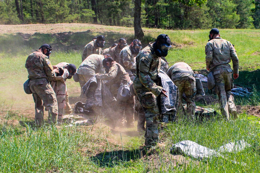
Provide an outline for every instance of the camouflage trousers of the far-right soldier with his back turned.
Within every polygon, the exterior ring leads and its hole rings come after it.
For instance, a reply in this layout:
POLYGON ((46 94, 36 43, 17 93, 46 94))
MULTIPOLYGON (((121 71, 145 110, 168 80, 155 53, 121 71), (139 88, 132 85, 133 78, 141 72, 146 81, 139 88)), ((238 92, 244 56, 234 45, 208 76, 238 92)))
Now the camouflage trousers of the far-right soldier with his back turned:
POLYGON ((218 95, 222 115, 226 120, 229 120, 231 116, 236 119, 237 109, 234 103, 233 94, 231 93, 231 89, 233 88, 231 68, 217 67, 213 70, 213 75, 216 81, 215 92, 218 95))

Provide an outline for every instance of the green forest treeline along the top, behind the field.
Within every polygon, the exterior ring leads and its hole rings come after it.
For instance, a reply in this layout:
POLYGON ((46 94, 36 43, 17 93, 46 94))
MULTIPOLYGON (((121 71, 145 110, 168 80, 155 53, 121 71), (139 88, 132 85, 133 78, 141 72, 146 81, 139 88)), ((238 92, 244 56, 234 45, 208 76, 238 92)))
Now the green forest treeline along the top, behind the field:
MULTIPOLYGON (((0 24, 134 26, 136 0, 0 0, 0 24)), ((140 0, 141 26, 259 28, 260 0, 140 0)))

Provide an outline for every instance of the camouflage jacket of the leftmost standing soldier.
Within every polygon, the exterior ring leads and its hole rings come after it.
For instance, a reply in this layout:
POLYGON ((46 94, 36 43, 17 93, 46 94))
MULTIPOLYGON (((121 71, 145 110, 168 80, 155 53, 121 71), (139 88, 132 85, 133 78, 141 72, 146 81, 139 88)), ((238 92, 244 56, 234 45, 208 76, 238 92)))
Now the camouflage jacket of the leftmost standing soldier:
POLYGON ((50 82, 54 80, 54 71, 49 57, 39 50, 28 56, 25 67, 27 68, 29 79, 46 78, 50 82))

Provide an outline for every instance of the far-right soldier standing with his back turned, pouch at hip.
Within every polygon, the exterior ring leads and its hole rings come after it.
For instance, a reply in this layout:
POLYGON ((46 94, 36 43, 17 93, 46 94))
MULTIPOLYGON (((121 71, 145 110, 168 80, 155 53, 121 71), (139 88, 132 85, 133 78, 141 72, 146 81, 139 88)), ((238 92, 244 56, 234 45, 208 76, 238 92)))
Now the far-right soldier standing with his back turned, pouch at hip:
POLYGON ((210 31, 209 42, 205 46, 206 68, 212 71, 216 81, 215 91, 220 102, 220 110, 226 120, 230 116, 237 118, 237 109, 234 97, 231 93, 233 88, 232 70, 229 65, 233 63, 233 78, 238 78, 238 57, 234 46, 225 39, 222 39, 217 28, 210 31))

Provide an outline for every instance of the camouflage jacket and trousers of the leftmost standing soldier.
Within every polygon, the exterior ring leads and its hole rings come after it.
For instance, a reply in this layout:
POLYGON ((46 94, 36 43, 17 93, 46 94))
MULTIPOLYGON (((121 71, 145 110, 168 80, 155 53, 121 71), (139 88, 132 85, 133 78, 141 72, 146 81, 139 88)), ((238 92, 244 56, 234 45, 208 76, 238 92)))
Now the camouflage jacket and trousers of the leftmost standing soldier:
POLYGON ((43 121, 43 106, 49 112, 48 122, 56 123, 58 104, 55 92, 49 83, 54 80, 54 71, 49 57, 36 50, 28 56, 25 67, 29 74, 29 87, 35 102, 35 124, 41 125, 43 121))

